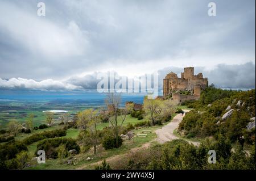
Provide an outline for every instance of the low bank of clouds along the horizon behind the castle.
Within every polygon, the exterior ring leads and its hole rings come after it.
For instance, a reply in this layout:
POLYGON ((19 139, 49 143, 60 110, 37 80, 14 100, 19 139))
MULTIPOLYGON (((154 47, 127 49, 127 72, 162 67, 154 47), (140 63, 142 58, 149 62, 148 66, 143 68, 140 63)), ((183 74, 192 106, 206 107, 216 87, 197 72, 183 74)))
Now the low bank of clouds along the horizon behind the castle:
MULTIPOLYGON (((180 77, 183 68, 168 67, 158 71, 159 90, 163 87, 163 78, 173 71, 180 77)), ((195 67, 195 74, 203 73, 208 78, 209 84, 225 89, 255 89, 255 64, 247 62, 242 65, 218 64, 213 70, 205 67, 195 67)), ((106 74, 109 74, 106 73, 106 74)), ((115 75, 119 76, 117 73, 115 75)), ((124 76, 124 75, 123 75, 124 76)), ((138 77, 141 75, 138 75, 138 77)), ((120 77, 120 76, 119 76, 120 77)), ((34 90, 95 90, 97 83, 97 72, 83 77, 72 77, 65 81, 54 81, 46 79, 34 81, 32 79, 11 78, 4 80, 0 78, 0 88, 5 89, 34 89, 34 90)), ((115 82, 117 82, 116 80, 115 82)))

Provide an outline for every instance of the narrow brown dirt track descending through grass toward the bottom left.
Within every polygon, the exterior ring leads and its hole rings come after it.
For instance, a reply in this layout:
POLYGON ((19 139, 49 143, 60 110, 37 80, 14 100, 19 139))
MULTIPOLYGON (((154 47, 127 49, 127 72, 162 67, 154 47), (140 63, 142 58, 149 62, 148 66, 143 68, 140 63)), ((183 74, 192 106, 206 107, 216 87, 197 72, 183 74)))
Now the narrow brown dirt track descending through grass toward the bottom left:
MULTIPOLYGON (((129 150, 128 153, 118 154, 118 155, 114 155, 112 157, 108 157, 108 158, 106 158, 106 162, 118 161, 118 159, 121 159, 122 157, 125 157, 126 155, 128 155, 132 152, 137 152, 137 151, 142 150, 142 149, 147 149, 150 146, 150 144, 151 144, 151 142, 147 142, 146 144, 143 144, 140 147, 136 147, 136 148, 133 148, 133 149, 129 150)), ((84 170, 88 167, 100 165, 102 163, 102 161, 103 160, 95 162, 95 163, 91 163, 89 165, 81 166, 81 167, 77 168, 77 170, 84 170)))

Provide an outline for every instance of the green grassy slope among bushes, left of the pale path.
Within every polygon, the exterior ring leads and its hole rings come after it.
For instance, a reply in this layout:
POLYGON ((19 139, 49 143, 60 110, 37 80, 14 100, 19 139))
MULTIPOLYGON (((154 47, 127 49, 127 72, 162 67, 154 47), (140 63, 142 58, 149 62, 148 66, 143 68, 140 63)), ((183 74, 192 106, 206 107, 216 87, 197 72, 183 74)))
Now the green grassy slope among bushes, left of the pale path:
MULTIPOLYGON (((172 116, 174 117, 175 114, 172 116)), ((127 119, 125 120, 125 123, 123 125, 127 125, 128 123, 135 124, 138 123, 138 121, 145 121, 147 118, 144 118, 143 120, 137 120, 134 117, 131 117, 130 115, 127 116, 127 119)), ((165 123, 163 125, 166 125, 168 123, 165 123)), ((98 129, 102 129, 105 126, 108 126, 109 123, 100 123, 98 125, 98 129)), ((129 151, 133 148, 141 147, 143 144, 146 144, 148 142, 151 142, 152 145, 156 144, 155 141, 156 134, 155 130, 162 127, 161 126, 155 126, 155 127, 144 127, 144 128, 138 128, 134 129, 135 137, 133 140, 126 140, 123 142, 123 145, 118 149, 110 149, 110 150, 104 150, 103 148, 98 148, 98 152, 96 155, 93 155, 92 151, 89 151, 88 153, 81 153, 75 156, 76 161, 78 162, 76 165, 68 165, 68 164, 61 164, 59 159, 55 160, 47 160, 46 164, 39 164, 35 167, 30 167, 28 169, 77 169, 79 167, 86 167, 86 169, 94 169, 94 167, 90 166, 92 163, 96 163, 98 161, 102 161, 105 158, 112 157, 114 155, 121 155, 125 153, 129 153, 129 151), (144 132, 144 131, 150 131, 150 132, 144 132), (138 133, 146 133, 146 137, 139 137, 136 136, 138 133), (91 161, 86 161, 86 158, 90 157, 93 158, 91 161)), ((76 138, 79 131, 77 129, 68 129, 67 136, 66 137, 72 137, 76 138)), ((31 153, 34 153, 33 150, 36 149, 36 144, 32 144, 29 146, 29 150, 31 153)), ((65 158, 64 161, 67 161, 68 158, 65 158)))

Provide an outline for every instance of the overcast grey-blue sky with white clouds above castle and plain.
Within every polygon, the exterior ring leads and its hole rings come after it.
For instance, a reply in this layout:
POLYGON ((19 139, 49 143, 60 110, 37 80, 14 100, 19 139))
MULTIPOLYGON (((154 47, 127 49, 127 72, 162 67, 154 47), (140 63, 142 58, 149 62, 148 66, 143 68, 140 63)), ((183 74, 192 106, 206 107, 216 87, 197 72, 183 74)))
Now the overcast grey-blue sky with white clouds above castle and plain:
MULTIPOLYGON (((0 1, 0 87, 92 89, 96 73, 160 78, 195 66, 219 87, 255 87, 255 1, 0 1)), ((162 83, 162 82, 161 82, 162 83)), ((161 86, 161 84, 160 84, 161 86)))

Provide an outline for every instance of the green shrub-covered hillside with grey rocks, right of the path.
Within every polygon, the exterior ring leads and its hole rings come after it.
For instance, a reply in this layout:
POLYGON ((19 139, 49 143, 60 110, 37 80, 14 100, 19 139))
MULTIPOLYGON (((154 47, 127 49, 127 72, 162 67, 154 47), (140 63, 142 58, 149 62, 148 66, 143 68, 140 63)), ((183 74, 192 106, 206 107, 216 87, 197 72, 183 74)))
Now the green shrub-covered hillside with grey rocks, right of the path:
POLYGON ((255 117, 255 90, 232 91, 210 86, 200 100, 183 104, 195 109, 181 121, 180 133, 200 138, 217 138, 222 134, 232 142, 244 136, 247 144, 255 143, 255 127, 246 128, 255 117))

